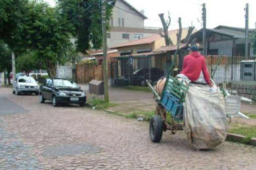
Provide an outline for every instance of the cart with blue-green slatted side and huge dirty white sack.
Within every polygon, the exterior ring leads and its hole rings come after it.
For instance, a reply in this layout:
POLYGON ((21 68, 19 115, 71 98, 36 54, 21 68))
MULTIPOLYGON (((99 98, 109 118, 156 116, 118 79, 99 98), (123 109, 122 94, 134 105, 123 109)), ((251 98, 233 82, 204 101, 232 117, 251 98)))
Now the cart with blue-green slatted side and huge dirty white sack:
POLYGON ((167 77, 160 79, 155 88, 147 80, 157 103, 155 116, 149 123, 150 139, 159 142, 162 132, 166 130, 175 134, 180 130, 179 121, 183 120, 183 130, 193 149, 214 148, 226 139, 227 117, 246 117, 239 112, 240 100, 243 99, 230 95, 226 89, 220 89, 212 80, 214 90, 209 85, 190 83, 184 77, 172 77, 171 70, 178 49, 179 46, 167 77), (169 113, 171 121, 167 121, 166 113, 169 113))

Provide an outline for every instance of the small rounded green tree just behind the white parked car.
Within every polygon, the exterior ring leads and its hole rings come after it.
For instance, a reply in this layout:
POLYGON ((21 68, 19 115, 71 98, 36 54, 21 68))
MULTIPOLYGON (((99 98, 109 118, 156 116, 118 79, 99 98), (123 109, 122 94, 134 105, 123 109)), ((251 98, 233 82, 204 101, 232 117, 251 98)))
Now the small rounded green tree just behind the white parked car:
POLYGON ((37 51, 26 51, 16 59, 16 70, 25 72, 27 76, 32 70, 45 69, 45 64, 38 60, 37 51))

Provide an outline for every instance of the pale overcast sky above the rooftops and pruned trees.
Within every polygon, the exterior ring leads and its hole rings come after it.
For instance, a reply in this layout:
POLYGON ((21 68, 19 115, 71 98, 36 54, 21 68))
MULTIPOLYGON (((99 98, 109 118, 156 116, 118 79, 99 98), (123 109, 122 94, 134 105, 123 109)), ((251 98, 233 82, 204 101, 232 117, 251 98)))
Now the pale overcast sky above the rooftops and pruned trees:
MULTIPOLYGON (((45 0, 54 5, 55 0, 45 0)), ((196 29, 202 26, 202 3, 206 4, 206 27, 214 28, 218 25, 245 27, 245 4, 249 3, 249 28, 255 28, 256 0, 126 0, 137 10, 144 10, 149 18, 145 20, 145 26, 162 27, 158 17, 159 13, 171 16, 169 29, 177 29, 178 18, 182 19, 182 27, 193 24, 196 29)))

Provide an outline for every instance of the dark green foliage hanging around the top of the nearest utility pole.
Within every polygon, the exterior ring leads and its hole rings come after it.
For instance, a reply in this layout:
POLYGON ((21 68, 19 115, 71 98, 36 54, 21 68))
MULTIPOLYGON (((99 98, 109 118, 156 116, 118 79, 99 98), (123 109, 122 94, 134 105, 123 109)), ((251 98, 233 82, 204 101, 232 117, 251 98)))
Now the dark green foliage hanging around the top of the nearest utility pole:
MULTIPOLYGON (((112 13, 113 3, 106 8, 107 29, 112 13)), ((73 37, 75 37, 76 49, 85 53, 91 48, 100 49, 102 46, 101 27, 101 0, 58 0, 58 9, 61 16, 67 18, 72 24, 73 37)))

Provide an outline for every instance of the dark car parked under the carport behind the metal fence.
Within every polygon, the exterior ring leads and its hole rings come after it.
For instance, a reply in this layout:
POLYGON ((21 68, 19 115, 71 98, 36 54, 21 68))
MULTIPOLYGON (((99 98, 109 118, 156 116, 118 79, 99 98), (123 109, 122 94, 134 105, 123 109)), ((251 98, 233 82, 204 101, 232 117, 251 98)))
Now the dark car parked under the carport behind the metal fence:
MULTIPOLYGON (((150 68, 150 80, 152 82, 157 81, 163 76, 164 76, 163 70, 156 67, 150 68)), ((129 77, 130 77, 129 74, 125 75, 125 80, 129 80, 129 77)), ((147 79, 149 80, 149 68, 145 68, 145 73, 144 73, 144 69, 138 69, 135 72, 133 72, 133 85, 146 86, 147 79), (145 74, 145 79, 144 79, 144 74, 145 74)))

